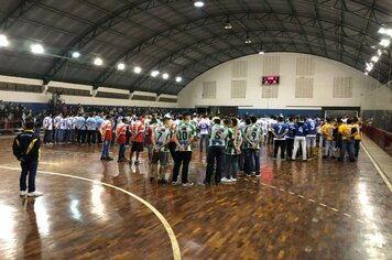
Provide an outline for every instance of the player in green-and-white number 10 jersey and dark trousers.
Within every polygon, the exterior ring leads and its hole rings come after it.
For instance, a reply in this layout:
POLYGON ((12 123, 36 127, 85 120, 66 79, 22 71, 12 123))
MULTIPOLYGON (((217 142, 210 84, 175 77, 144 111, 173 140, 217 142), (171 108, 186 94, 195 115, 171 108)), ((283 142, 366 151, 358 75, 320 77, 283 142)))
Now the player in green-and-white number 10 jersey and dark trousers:
POLYGON ((188 167, 192 159, 192 142, 194 140, 196 129, 190 124, 190 115, 184 113, 183 121, 177 123, 175 129, 174 141, 177 149, 174 153, 174 167, 172 184, 177 185, 179 167, 183 165, 182 183, 184 187, 193 186, 188 182, 188 167))

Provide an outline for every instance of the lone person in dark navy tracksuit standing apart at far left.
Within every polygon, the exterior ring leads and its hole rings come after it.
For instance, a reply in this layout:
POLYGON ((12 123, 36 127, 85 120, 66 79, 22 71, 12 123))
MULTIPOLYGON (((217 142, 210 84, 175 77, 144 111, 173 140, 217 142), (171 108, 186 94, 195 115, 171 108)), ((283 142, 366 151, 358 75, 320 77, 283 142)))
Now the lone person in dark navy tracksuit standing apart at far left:
POLYGON ((43 193, 35 191, 35 176, 41 156, 40 136, 34 133, 34 122, 24 124, 24 131, 18 134, 12 144, 13 155, 21 162, 20 196, 39 197, 43 193), (26 178, 29 176, 29 189, 26 178), (28 189, 28 192, 26 192, 28 189))

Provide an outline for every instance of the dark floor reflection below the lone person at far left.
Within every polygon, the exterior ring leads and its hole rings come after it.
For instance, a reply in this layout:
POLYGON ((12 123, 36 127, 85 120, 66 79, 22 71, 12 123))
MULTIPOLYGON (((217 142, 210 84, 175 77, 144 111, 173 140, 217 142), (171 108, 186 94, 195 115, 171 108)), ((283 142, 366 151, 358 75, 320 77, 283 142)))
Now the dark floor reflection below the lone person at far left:
POLYGON ((31 258, 41 258, 41 236, 39 231, 39 226, 36 224, 36 216, 35 216, 35 209, 34 209, 34 204, 35 199, 34 198, 29 198, 24 201, 24 206, 28 215, 28 223, 25 226, 25 229, 28 230, 26 236, 24 238, 23 242, 23 258, 24 259, 31 259, 31 258))

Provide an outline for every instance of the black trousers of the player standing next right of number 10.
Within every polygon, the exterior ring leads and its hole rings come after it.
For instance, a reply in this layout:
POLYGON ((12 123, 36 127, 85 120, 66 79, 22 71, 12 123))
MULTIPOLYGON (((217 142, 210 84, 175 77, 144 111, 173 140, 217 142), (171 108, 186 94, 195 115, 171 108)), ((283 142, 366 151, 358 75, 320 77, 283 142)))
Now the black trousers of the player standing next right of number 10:
POLYGON ((215 184, 220 183, 224 154, 225 154, 225 147, 211 145, 208 148, 206 180, 205 180, 206 183, 208 184, 211 183, 215 163, 216 163, 215 184))

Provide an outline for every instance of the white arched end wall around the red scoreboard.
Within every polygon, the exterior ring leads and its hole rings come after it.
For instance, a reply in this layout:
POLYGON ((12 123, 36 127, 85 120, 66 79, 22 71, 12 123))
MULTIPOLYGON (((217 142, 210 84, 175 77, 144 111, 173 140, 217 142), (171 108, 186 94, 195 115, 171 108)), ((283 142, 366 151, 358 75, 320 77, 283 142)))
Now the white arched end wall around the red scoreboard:
MULTIPOLYGON (((306 76, 307 77, 307 76, 306 76)), ((375 79, 333 59, 298 53, 266 53, 250 55, 224 63, 194 79, 178 94, 178 107, 239 106, 260 109, 312 109, 323 106, 361 106, 361 96, 375 79), (279 75, 263 75, 263 59, 280 57, 279 75), (295 98, 296 61, 298 57, 314 57, 314 96, 295 98), (231 98, 231 67, 236 61, 248 62, 247 98, 231 98), (280 76, 279 98, 261 98, 262 76, 280 76), (333 98, 334 77, 352 78, 352 98, 333 98), (217 83, 217 98, 203 98, 203 83, 217 83)))

